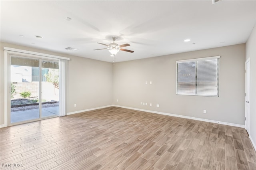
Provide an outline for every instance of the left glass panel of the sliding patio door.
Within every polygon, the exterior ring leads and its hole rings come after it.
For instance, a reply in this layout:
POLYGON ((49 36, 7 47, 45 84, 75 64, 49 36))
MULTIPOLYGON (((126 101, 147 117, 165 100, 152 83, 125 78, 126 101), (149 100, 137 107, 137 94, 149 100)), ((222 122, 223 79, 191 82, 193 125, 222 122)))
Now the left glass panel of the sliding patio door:
POLYGON ((39 59, 11 57, 10 123, 40 118, 39 59))

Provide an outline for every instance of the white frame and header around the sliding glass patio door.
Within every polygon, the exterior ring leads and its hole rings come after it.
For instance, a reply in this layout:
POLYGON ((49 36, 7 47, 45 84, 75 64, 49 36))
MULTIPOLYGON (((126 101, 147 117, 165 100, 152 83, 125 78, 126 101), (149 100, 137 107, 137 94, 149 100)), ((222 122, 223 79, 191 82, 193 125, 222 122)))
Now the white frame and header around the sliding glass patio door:
MULTIPOLYGON (((32 58, 37 58, 40 61, 42 59, 49 59, 49 60, 56 60, 59 61, 60 59, 67 59, 69 60, 69 58, 66 57, 60 57, 60 56, 56 56, 56 55, 48 55, 48 54, 43 54, 43 53, 37 53, 37 52, 32 52, 32 51, 25 51, 25 50, 18 50, 18 49, 13 49, 13 48, 9 48, 9 47, 4 47, 4 127, 8 127, 8 126, 13 126, 13 125, 18 125, 21 123, 29 123, 29 122, 34 122, 34 121, 40 121, 43 119, 48 119, 48 118, 52 118, 52 117, 57 117, 57 116, 51 116, 51 117, 46 117, 46 118, 42 118, 41 116, 41 111, 40 111, 40 117, 39 119, 33 119, 33 120, 29 120, 29 121, 22 121, 22 122, 18 122, 18 123, 10 123, 10 88, 11 88, 11 81, 10 81, 10 58, 12 55, 17 55, 17 56, 23 56, 23 57, 32 57, 32 58)), ((41 62, 39 62, 41 64, 41 62)), ((40 69, 39 69, 40 70, 40 69)), ((41 74, 41 71, 40 71, 41 74)), ((40 76, 41 77, 41 76, 40 76)), ((39 83, 40 84, 40 83, 39 83)), ((41 85, 39 85, 40 87, 41 85)), ((39 91, 41 90, 41 87, 39 88, 39 91)), ((39 93, 39 96, 41 96, 41 94, 39 93)), ((41 100, 41 99, 40 99, 41 100)), ((40 105, 39 105, 40 107, 40 105)), ((39 108, 40 110, 40 108, 39 108)))

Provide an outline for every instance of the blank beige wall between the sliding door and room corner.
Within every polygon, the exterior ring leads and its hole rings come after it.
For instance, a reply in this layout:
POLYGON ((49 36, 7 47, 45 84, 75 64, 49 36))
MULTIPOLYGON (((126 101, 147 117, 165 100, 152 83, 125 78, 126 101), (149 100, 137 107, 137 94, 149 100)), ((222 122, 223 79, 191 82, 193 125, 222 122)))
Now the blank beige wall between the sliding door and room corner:
POLYGON ((68 62, 68 112, 112 105, 112 96, 112 63, 72 57, 68 62))

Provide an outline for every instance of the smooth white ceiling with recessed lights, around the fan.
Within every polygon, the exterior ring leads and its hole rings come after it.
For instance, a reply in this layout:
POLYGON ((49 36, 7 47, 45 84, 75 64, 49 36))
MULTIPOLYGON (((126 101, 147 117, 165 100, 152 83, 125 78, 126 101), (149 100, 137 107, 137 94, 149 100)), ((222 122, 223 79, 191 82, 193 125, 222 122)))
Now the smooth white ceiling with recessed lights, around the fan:
POLYGON ((123 48, 134 51, 118 52, 120 62, 245 43, 255 21, 255 0, 1 1, 0 38, 112 62, 107 49, 93 49, 105 48, 97 42, 109 44, 114 35, 116 43, 129 43, 123 48))

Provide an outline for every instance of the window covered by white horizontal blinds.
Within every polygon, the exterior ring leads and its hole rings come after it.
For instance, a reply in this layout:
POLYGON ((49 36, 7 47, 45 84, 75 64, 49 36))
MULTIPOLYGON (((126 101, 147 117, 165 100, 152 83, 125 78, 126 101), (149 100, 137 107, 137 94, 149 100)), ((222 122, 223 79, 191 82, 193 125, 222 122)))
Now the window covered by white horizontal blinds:
POLYGON ((219 58, 176 61, 176 94, 218 97, 219 58))

